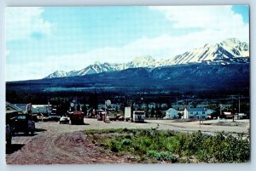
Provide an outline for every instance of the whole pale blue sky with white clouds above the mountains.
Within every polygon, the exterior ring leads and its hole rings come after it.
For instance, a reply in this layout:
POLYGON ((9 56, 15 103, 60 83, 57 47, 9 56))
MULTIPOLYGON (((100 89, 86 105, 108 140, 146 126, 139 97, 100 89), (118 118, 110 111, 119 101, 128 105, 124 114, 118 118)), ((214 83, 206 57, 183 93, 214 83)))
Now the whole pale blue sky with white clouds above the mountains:
POLYGON ((137 56, 170 59, 230 37, 249 43, 248 6, 8 7, 6 81, 137 56))

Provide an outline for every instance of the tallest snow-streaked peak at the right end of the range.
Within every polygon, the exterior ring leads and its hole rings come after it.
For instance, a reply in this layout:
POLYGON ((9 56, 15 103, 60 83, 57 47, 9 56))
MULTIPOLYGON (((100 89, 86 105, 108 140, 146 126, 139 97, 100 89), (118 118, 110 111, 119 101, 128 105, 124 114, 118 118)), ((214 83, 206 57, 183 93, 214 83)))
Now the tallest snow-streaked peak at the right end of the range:
MULTIPOLYGON (((164 60, 158 66, 172 66, 188 63, 219 61, 222 64, 237 62, 238 58, 248 58, 249 48, 247 43, 241 43, 236 38, 229 38, 222 43, 206 44, 201 48, 195 48, 191 51, 179 54, 172 59, 164 60)), ((248 60, 248 59, 247 59, 248 60)))

